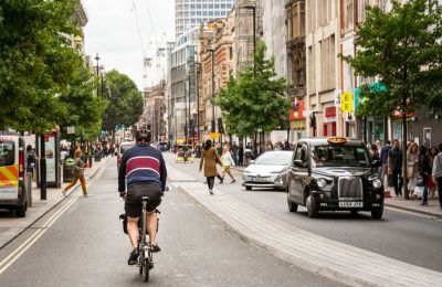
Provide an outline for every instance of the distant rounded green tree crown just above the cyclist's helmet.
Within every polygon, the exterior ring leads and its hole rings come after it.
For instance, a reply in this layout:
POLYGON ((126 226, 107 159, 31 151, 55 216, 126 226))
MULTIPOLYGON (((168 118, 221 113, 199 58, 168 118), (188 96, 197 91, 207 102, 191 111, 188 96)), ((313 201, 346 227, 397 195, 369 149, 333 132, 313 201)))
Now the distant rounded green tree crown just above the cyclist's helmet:
POLYGON ((116 125, 126 127, 134 125, 143 114, 144 100, 135 83, 117 71, 106 74, 108 89, 104 97, 108 106, 104 114, 104 125, 107 130, 114 130, 116 125))

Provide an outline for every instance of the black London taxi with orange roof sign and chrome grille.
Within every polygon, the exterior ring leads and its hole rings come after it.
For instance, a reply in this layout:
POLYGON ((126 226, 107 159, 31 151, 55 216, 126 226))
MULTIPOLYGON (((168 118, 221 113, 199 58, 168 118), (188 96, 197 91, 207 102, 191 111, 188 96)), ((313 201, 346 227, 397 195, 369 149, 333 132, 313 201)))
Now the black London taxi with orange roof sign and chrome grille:
POLYGON ((319 211, 370 211, 372 219, 381 219, 385 193, 376 176, 379 166, 360 140, 299 139, 287 173, 288 210, 304 205, 308 217, 319 211))

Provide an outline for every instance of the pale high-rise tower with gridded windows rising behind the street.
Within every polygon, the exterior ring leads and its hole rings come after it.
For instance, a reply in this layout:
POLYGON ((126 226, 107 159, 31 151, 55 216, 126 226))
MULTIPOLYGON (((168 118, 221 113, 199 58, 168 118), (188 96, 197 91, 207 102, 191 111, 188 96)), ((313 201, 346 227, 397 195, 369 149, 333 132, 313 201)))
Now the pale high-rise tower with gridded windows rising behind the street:
POLYGON ((175 0, 175 31, 178 39, 186 31, 224 19, 235 0, 175 0))

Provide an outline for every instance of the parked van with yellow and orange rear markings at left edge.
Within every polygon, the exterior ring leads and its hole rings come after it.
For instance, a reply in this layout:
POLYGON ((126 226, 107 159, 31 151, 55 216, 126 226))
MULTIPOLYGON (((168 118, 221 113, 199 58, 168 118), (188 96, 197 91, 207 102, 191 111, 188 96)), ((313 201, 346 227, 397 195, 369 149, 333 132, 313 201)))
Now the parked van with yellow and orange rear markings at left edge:
POLYGON ((25 142, 19 136, 0 135, 0 209, 24 217, 28 208, 25 142))

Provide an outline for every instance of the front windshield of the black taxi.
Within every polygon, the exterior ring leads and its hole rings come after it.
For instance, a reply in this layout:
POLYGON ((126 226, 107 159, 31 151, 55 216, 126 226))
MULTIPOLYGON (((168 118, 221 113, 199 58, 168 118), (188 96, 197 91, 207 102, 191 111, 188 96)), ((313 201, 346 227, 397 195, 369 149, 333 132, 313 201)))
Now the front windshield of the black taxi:
POLYGON ((369 167, 361 146, 316 146, 311 156, 312 167, 369 167))

